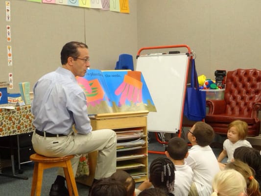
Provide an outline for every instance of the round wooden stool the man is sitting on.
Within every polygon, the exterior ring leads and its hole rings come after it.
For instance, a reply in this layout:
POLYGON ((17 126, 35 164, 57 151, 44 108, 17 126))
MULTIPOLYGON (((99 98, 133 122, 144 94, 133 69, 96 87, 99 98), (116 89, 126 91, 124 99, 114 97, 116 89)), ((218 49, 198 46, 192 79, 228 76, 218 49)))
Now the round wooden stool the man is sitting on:
POLYGON ((74 196, 78 196, 76 182, 71 168, 71 159, 73 157, 74 155, 69 155, 65 157, 46 157, 36 153, 32 154, 30 156, 30 160, 34 162, 34 170, 31 196, 35 195, 35 191, 36 196, 41 195, 43 172, 45 169, 55 167, 62 167, 64 169, 69 195, 72 196, 73 190, 74 196))

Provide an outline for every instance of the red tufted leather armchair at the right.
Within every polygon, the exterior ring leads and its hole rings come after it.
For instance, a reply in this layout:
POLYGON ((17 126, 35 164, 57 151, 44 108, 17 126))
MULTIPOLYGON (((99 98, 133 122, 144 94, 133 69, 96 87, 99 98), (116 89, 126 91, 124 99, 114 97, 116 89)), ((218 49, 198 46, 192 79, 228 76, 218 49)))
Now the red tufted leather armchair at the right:
POLYGON ((235 120, 248 124, 248 136, 260 132, 261 70, 237 69, 227 72, 224 100, 207 100, 209 113, 205 122, 215 133, 227 134, 228 124, 235 120))

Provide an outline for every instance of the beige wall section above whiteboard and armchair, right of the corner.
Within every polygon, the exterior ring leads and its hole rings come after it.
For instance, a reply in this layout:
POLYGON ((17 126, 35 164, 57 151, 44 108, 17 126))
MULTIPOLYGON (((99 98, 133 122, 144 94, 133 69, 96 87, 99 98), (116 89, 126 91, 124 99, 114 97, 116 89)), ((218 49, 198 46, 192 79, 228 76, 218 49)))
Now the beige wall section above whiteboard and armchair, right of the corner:
MULTIPOLYGON (((261 69, 260 0, 139 0, 138 48, 186 44, 198 75, 261 69)), ((145 51, 144 51, 145 52, 145 51)))

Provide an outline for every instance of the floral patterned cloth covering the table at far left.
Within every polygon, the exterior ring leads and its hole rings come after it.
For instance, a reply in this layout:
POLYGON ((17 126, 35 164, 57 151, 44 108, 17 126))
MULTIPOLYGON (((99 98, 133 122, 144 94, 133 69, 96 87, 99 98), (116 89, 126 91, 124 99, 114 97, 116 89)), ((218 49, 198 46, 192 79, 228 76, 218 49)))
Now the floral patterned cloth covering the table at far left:
POLYGON ((35 129, 32 121, 31 105, 0 108, 0 137, 30 133, 35 129))

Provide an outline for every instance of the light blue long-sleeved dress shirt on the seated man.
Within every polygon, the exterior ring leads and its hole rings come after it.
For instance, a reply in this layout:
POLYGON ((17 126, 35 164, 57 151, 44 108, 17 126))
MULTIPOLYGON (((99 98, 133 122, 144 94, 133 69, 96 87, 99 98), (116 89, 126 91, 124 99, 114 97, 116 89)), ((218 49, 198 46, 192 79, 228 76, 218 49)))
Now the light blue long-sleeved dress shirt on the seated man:
POLYGON ((59 67, 41 77, 33 87, 31 111, 40 131, 68 135, 75 124, 80 134, 92 131, 86 97, 71 71, 59 67))

